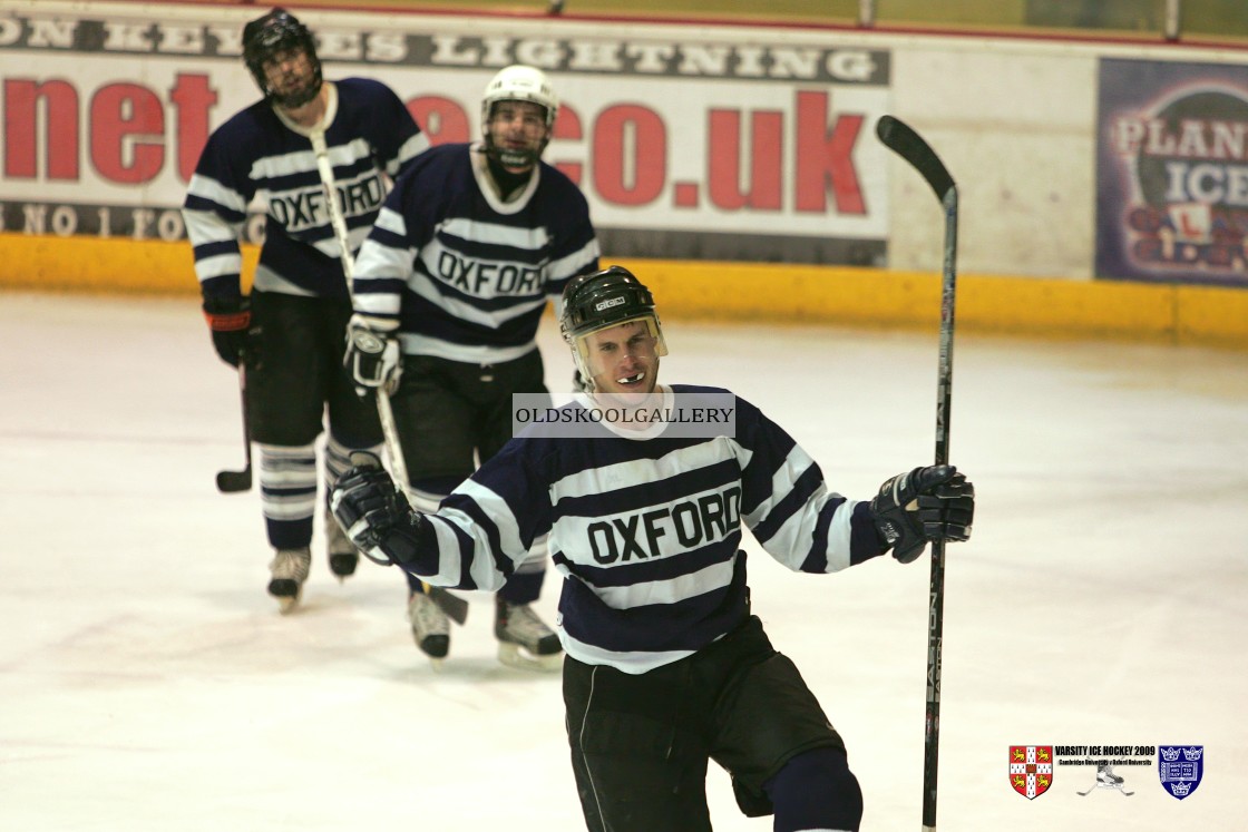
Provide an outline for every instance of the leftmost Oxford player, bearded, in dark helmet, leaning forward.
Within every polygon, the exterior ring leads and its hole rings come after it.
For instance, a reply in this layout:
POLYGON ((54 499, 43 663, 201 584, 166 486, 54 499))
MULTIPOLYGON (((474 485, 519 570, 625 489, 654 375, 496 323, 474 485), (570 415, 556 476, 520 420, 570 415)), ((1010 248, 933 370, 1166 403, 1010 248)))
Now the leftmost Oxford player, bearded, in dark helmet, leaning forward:
MULTIPOLYGON (((183 216, 212 343, 247 375, 261 509, 276 550, 268 593, 286 612, 298 602, 311 564, 314 442, 326 409, 327 495, 349 449, 381 443, 377 413, 356 397, 342 365, 351 302, 312 137, 324 137, 351 247, 377 217, 387 180, 409 167, 428 138, 387 86, 323 81, 312 32, 282 9, 248 22, 242 46, 265 99, 208 138, 183 216), (238 236, 257 193, 267 198, 265 243, 246 296, 238 236)), ((358 555, 328 510, 326 520, 329 568, 341 580, 358 555)))

